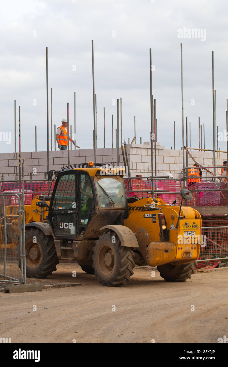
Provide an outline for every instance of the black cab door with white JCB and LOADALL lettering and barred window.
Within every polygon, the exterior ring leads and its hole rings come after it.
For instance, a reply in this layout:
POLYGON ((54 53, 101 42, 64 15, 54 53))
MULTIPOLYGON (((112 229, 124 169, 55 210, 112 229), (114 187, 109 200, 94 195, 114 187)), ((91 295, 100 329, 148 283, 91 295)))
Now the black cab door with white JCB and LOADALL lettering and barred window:
POLYGON ((48 222, 56 239, 78 237, 78 172, 57 177, 49 208, 48 222))

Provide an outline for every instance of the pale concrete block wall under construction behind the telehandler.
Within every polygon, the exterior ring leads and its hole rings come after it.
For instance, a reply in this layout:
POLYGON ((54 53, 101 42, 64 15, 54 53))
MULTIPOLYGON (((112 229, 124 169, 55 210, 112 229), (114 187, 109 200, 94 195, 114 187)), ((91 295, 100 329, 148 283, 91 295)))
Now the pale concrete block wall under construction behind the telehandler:
MULTIPOLYGON (((183 155, 182 150, 165 149, 157 142, 157 175, 172 173, 173 177, 180 178, 183 175, 183 155)), ((151 144, 127 144, 128 161, 130 164, 131 175, 141 174, 142 176, 151 175, 151 144)), ((70 164, 87 163, 94 161, 93 149, 70 150, 70 164)), ((153 150, 154 155, 154 150, 153 150)), ((204 166, 213 165, 213 152, 199 152, 191 150, 191 155, 198 163, 204 166)), ((226 153, 216 153, 216 165, 222 166, 227 159, 226 153)), ((47 172, 47 152, 22 152, 21 164, 24 163, 24 176, 26 179, 40 180, 45 178, 47 172)), ((97 149, 97 162, 117 165, 117 148, 97 149)), ((185 158, 186 164, 186 158, 185 158)), ((193 160, 188 158, 188 165, 192 165, 193 160)), ((119 165, 123 165, 122 150, 119 149, 119 165)), ((49 152, 49 169, 61 170, 67 166, 67 150, 56 150, 49 152)), ((219 174, 220 169, 216 174, 219 174)), ((0 154, 0 179, 19 179, 19 153, 0 154)), ((203 172, 206 175, 206 172, 203 172)))

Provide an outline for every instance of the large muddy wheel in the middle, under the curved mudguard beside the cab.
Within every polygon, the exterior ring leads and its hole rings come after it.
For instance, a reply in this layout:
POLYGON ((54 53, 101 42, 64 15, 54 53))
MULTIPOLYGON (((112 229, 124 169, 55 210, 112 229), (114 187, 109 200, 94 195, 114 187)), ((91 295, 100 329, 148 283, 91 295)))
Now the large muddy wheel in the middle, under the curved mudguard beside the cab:
POLYGON ((126 285, 135 267, 131 248, 121 246, 116 233, 109 231, 99 236, 93 251, 93 268, 99 283, 108 287, 126 285), (113 236, 115 243, 112 242, 113 236))

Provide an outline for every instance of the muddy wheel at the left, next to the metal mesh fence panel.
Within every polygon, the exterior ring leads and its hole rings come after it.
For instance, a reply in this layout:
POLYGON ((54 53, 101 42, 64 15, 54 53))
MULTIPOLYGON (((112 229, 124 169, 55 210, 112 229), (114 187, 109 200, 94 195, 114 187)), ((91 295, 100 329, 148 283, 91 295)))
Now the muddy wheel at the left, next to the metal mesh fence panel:
MULTIPOLYGON (((59 264, 52 236, 45 236, 38 228, 25 232, 26 276, 29 278, 46 278, 52 275, 59 264), (36 237, 36 242, 33 242, 36 237)), ((20 268, 20 259, 18 262, 20 268)))

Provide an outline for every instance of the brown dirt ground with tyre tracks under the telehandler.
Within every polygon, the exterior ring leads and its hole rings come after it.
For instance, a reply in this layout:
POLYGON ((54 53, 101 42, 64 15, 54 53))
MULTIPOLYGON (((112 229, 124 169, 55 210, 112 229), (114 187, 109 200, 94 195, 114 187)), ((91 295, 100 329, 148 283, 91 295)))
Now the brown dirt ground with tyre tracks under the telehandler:
POLYGON ((228 268, 198 272, 184 283, 164 281, 157 269, 152 277, 152 270, 135 268, 127 286, 112 288, 77 264, 59 264, 47 279, 28 281, 81 285, 0 292, 0 337, 12 343, 217 343, 228 336, 228 268))

